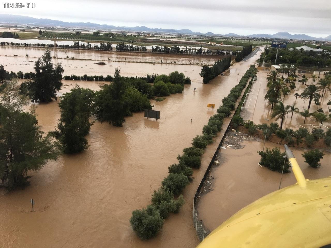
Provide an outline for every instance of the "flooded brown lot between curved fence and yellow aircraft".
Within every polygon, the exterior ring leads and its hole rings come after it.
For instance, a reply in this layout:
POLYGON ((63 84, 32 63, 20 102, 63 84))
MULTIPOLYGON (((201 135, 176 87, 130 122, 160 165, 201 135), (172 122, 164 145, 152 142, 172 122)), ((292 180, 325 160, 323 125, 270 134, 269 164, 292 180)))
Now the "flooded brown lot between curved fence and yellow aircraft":
MULTIPOLYGON (((237 211, 259 199, 260 197, 278 190, 281 173, 260 167, 260 155, 257 150, 263 148, 263 141, 244 141, 242 149, 220 149, 220 165, 214 167, 210 173, 214 177, 212 191, 201 196, 198 202, 199 219, 211 231, 235 214, 237 211)), ((279 147, 283 145, 266 141, 265 147, 279 147)), ((291 148, 305 177, 318 179, 331 176, 331 153, 324 151, 321 167, 311 168, 301 155, 307 150, 291 148)), ((290 169, 292 171, 292 169, 290 169)), ((297 181, 294 173, 283 175, 281 188, 293 185, 297 181)))

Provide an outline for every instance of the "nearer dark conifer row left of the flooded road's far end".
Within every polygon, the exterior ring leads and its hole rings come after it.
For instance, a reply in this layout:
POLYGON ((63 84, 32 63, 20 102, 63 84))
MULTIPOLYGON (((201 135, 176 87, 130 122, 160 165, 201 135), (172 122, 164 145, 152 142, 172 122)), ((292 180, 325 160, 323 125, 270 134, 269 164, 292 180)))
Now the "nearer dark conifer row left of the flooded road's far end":
POLYGON ((215 78, 217 75, 221 74, 227 68, 229 68, 230 65, 231 65, 231 57, 228 56, 221 60, 215 61, 212 67, 208 65, 202 66, 199 75, 203 77, 202 81, 204 82, 204 84, 208 84, 213 78, 215 78))

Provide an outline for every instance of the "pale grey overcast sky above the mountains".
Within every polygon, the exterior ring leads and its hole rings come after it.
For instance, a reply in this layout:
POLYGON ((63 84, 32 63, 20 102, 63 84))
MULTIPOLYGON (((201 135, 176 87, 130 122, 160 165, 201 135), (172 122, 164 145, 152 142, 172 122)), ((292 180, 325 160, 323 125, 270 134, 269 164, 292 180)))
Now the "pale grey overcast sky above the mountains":
MULTIPOLYGON (((26 0, 25 0, 26 1, 26 0)), ((25 2, 21 1, 21 2, 25 2)), ((115 26, 191 29, 239 35, 287 31, 331 35, 330 0, 35 0, 35 9, 4 9, 1 14, 115 26)))

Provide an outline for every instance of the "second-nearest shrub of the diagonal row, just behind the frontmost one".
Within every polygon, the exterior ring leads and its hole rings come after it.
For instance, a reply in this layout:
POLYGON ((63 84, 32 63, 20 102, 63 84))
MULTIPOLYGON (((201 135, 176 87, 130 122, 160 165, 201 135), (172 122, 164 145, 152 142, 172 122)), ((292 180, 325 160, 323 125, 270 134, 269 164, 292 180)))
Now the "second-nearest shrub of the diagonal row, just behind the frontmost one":
POLYGON ((180 207, 184 204, 184 197, 180 195, 177 200, 173 198, 173 193, 168 188, 160 187, 158 191, 154 190, 152 203, 159 210, 163 219, 168 217, 169 213, 178 213, 180 207))

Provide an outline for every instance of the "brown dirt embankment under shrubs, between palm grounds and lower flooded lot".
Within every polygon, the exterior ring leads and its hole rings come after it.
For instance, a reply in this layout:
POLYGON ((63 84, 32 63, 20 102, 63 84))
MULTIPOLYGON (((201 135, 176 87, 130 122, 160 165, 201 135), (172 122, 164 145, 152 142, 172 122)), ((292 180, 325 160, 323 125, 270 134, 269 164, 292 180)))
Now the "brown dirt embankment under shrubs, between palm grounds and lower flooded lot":
MULTIPOLYGON (((244 126, 239 126, 237 128, 238 132, 242 132, 245 134, 249 134, 248 129, 245 128, 244 126)), ((251 134, 249 134, 251 135, 251 134)), ((258 129, 256 134, 254 135, 255 137, 260 138, 261 140, 264 140, 264 135, 263 135, 263 131, 258 129)), ((279 137, 277 137, 275 134, 272 134, 270 139, 268 139, 268 141, 272 142, 272 143, 276 143, 276 144, 280 144, 280 145, 288 145, 291 147, 295 147, 295 148, 305 148, 305 149, 310 149, 310 148, 317 148, 317 149, 327 149, 329 148, 329 146, 327 146, 324 142, 324 139, 319 139, 318 141, 315 141, 313 145, 311 145, 310 147, 307 145, 305 139, 302 139, 302 142, 297 144, 297 139, 293 138, 294 140, 294 144, 288 144, 284 139, 281 139, 279 137)))

